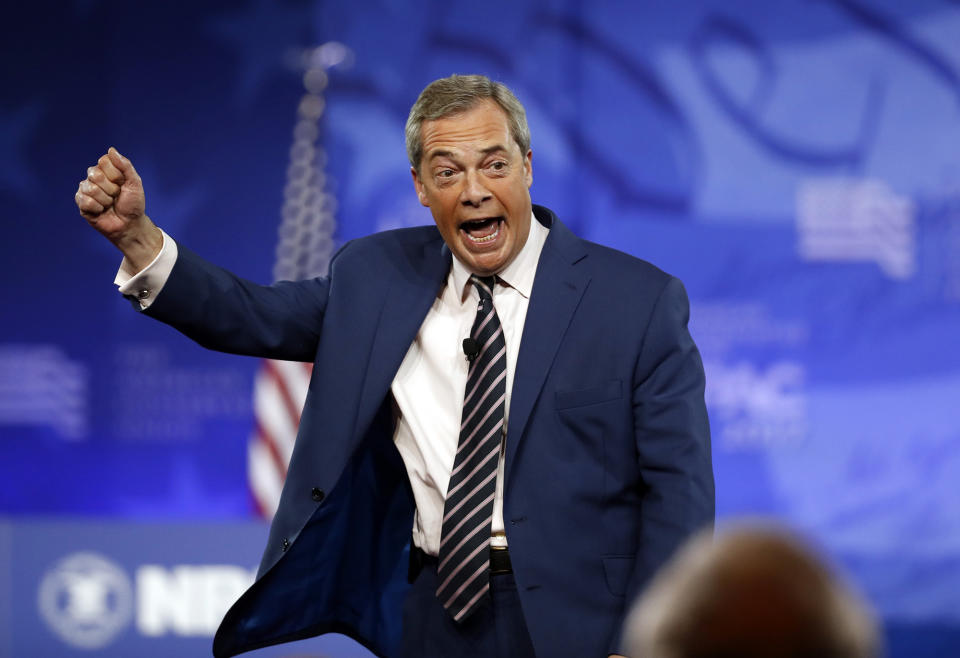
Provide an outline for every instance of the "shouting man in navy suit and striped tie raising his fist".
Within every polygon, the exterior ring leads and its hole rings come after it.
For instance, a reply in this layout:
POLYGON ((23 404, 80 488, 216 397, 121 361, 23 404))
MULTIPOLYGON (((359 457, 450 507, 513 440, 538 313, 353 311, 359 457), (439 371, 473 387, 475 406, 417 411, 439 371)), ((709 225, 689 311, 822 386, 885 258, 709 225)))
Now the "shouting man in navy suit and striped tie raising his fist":
POLYGON ((406 134, 436 226, 350 242, 310 281, 256 285, 178 247, 114 149, 77 192, 144 313, 213 349, 314 363, 257 581, 214 653, 336 631, 383 656, 617 654, 630 602, 714 515, 686 293, 531 203, 526 118, 503 85, 435 81, 406 134), (438 598, 445 502, 476 413, 469 361, 489 357, 461 343, 491 319, 505 392, 481 413, 499 448, 481 568, 456 590, 477 594, 454 610, 438 598))

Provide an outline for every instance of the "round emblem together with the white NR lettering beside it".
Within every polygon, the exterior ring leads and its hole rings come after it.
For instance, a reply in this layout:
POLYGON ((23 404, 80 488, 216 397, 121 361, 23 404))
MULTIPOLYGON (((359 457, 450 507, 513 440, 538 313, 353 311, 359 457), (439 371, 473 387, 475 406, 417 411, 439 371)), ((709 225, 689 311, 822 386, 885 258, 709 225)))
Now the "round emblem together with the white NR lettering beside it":
POLYGON ((249 569, 228 564, 145 564, 133 579, 110 560, 75 553, 44 576, 40 613, 67 644, 99 649, 136 616, 141 636, 212 637, 230 605, 253 583, 249 569))

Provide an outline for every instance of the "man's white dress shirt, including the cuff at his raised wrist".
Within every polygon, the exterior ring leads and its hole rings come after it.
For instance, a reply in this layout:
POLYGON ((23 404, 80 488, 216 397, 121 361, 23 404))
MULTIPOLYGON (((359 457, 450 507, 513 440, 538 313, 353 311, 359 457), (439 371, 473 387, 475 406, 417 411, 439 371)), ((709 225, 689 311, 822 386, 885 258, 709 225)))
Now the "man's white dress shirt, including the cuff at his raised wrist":
MULTIPOLYGON (((513 375, 520 353, 520 338, 527 317, 533 280, 548 229, 535 217, 530 233, 516 258, 497 276, 493 305, 503 327, 507 347, 506 408, 510 415, 513 375)), ((153 303, 177 260, 177 244, 163 233, 157 257, 134 274, 126 259, 114 279, 120 292, 136 297, 141 308, 153 303)), ((457 258, 443 289, 427 312, 417 337, 407 350, 390 390, 394 398, 394 441, 410 478, 417 511, 413 522, 414 543, 437 555, 443 521, 443 503, 453 460, 460 440, 463 396, 467 386, 467 360, 462 342, 470 335, 479 295, 470 284, 470 272, 457 258)), ((504 435, 506 434, 504 423, 504 435)), ((495 546, 506 546, 503 523, 503 450, 493 503, 495 546)))

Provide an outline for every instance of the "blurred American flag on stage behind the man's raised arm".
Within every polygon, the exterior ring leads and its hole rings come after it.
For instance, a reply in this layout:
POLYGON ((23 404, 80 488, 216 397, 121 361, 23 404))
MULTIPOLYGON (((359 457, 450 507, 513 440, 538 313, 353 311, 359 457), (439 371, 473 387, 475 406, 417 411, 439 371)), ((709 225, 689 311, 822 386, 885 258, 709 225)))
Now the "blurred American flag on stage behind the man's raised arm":
MULTIPOLYGON (((306 93, 297 108, 273 276, 296 281, 326 274, 333 253, 334 199, 326 190, 326 161, 318 142, 327 70, 349 63, 342 44, 325 43, 299 57, 306 93)), ((300 425, 313 364, 264 360, 253 388, 254 428, 247 449, 247 481, 257 510, 272 518, 300 425)))

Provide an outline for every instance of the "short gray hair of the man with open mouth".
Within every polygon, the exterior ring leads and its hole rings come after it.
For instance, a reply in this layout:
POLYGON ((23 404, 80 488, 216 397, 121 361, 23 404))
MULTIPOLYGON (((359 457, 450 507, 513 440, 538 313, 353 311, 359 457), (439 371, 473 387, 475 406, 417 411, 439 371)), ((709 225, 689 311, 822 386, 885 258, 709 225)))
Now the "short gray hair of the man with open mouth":
POLYGON ((451 75, 427 85, 410 108, 404 131, 410 166, 420 171, 420 160, 423 158, 420 133, 424 121, 466 112, 485 100, 499 105, 507 115, 510 135, 520 147, 520 153, 525 155, 530 150, 530 128, 527 126, 527 113, 513 92, 502 82, 491 80, 485 75, 451 75))

